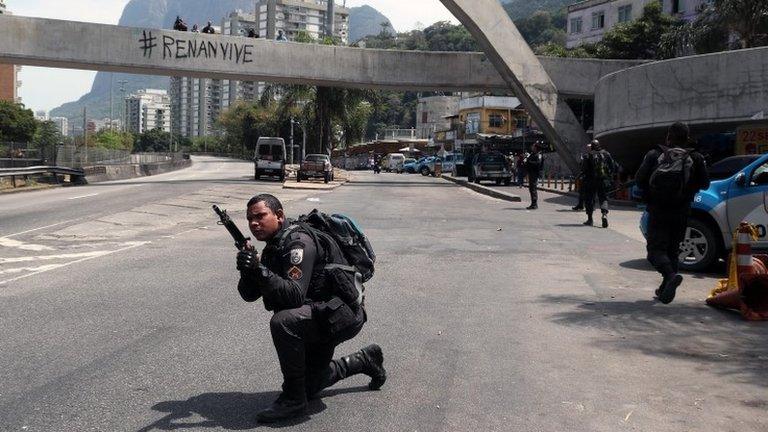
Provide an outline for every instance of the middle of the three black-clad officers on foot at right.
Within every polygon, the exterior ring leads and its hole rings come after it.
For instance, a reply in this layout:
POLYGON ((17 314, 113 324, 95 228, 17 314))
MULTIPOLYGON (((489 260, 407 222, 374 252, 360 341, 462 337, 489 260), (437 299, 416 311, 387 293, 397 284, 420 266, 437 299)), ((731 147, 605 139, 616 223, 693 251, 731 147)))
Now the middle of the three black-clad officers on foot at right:
POLYGON ((597 195, 600 212, 603 215, 603 228, 608 228, 608 191, 612 186, 616 169, 617 165, 611 154, 600 146, 600 141, 593 140, 582 166, 584 205, 587 210, 587 221, 584 225, 594 225, 592 213, 595 212, 595 195, 597 195))

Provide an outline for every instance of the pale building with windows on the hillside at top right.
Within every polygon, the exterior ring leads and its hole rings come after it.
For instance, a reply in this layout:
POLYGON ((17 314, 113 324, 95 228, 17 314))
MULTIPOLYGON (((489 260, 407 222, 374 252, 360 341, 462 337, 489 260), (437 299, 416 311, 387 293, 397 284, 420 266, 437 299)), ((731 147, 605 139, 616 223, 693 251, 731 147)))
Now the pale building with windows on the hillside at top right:
POLYGON ((616 24, 640 18, 646 4, 656 0, 586 0, 568 6, 567 48, 603 39, 616 24))

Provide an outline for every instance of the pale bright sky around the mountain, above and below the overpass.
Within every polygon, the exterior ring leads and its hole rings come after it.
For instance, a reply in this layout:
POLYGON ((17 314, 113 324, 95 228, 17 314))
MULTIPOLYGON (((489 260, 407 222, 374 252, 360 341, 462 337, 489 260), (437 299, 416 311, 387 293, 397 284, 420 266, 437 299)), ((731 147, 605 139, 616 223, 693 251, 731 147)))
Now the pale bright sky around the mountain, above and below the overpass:
MULTIPOLYGON (((337 0, 340 4, 344 0, 337 0)), ((117 24, 128 0, 6 0, 15 15, 117 24)), ((439 0, 346 0, 347 6, 368 4, 392 20, 398 31, 437 21, 456 22, 439 0)), ((22 102, 33 110, 50 110, 77 100, 91 89, 95 72, 23 67, 22 102)))

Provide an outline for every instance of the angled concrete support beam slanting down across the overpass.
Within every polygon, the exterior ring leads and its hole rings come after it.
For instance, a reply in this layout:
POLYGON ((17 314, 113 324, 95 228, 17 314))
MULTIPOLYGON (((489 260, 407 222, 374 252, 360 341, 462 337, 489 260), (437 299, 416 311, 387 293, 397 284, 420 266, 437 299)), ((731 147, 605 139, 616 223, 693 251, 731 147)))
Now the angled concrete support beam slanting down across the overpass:
POLYGON ((499 0, 440 1, 475 37, 568 168, 577 172, 576 155, 589 138, 499 0))

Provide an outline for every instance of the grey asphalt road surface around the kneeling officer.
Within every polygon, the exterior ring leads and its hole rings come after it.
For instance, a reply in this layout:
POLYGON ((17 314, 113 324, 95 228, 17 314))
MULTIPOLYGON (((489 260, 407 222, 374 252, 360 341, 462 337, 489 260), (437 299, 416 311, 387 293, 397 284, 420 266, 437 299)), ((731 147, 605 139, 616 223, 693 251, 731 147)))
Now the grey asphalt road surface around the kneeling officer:
POLYGON ((586 228, 554 195, 530 212, 441 179, 356 173, 333 192, 285 191, 250 169, 198 159, 0 197, 0 430, 264 427, 254 414, 280 385, 269 314, 240 300, 210 211, 230 208, 245 229, 258 192, 289 215, 318 207, 365 229, 379 257, 370 320, 338 354, 378 342, 389 372, 381 391, 351 378, 276 427, 768 429, 768 327, 706 307, 716 275, 651 301, 658 279, 621 228, 636 215, 586 228))

